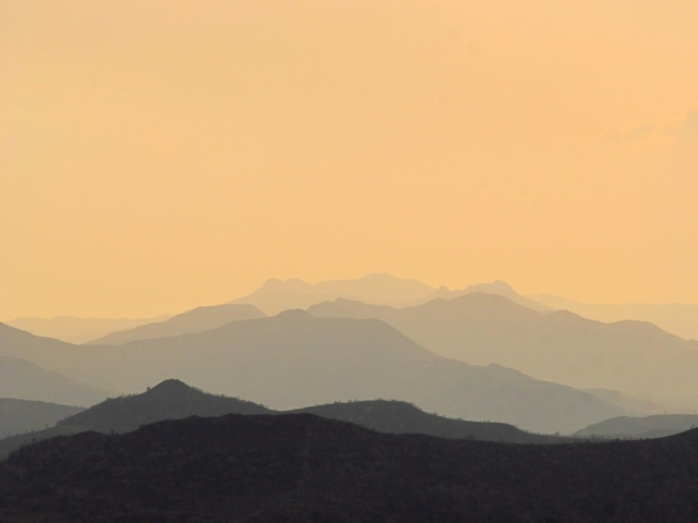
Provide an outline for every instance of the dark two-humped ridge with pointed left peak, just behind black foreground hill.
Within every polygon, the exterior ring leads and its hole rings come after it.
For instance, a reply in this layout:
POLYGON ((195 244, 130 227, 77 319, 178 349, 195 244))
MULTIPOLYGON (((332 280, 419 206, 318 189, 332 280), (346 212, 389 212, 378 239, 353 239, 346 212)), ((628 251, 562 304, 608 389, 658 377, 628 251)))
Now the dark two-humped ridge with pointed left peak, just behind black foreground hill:
MULTIPOLYGON (((1 401, 1 400, 0 400, 1 401)), ((478 439, 515 443, 554 443, 564 438, 520 430, 504 423, 466 422, 428 414, 400 401, 332 403, 294 412, 354 423, 393 434, 425 434, 450 439, 478 439)), ((189 416, 215 417, 224 414, 281 414, 237 398, 208 394, 177 379, 168 379, 136 396, 107 400, 67 417, 56 426, 0 439, 0 460, 35 441, 85 431, 129 433, 142 425, 189 416)), ((64 416, 62 416, 64 417, 64 416)))

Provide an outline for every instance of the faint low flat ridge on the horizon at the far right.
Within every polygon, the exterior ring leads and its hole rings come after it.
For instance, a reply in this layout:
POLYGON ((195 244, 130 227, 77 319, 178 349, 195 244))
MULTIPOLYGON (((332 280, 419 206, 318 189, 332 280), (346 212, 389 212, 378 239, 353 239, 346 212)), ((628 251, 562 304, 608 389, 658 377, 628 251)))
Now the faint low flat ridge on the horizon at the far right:
POLYGON ((698 305, 696 304, 626 303, 614 305, 576 302, 550 294, 538 294, 529 297, 551 308, 569 311, 585 318, 605 323, 626 319, 650 321, 665 331, 686 340, 698 340, 698 305))

